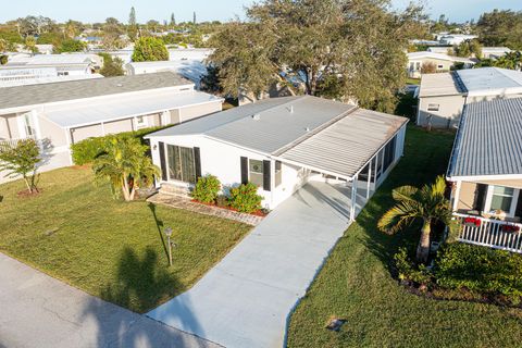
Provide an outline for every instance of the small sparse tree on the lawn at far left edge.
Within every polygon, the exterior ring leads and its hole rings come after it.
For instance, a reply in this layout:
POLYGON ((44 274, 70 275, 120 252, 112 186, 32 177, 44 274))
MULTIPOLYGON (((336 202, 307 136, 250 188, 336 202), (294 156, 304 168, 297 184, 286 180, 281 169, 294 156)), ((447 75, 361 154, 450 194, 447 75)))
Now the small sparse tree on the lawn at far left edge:
POLYGON ((40 148, 34 139, 18 140, 15 146, 0 144, 0 171, 8 177, 22 176, 29 194, 38 191, 36 185, 40 148))

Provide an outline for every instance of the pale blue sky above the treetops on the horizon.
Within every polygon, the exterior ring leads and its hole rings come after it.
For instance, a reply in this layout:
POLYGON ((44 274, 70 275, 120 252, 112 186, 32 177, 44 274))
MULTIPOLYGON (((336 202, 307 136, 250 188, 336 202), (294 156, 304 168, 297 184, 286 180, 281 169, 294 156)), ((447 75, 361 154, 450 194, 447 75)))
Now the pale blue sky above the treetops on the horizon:
MULTIPOLYGON (((391 0, 396 9, 402 9, 409 0, 391 0)), ((463 22, 478 18, 481 13, 493 9, 522 11, 522 0, 421 0, 426 12, 438 18, 446 14, 450 21, 463 22)), ((174 13, 177 22, 191 21, 196 11, 198 22, 227 21, 244 16, 244 7, 251 0, 0 0, 0 23, 29 14, 44 15, 64 22, 69 18, 82 22, 103 22, 113 16, 127 22, 130 7, 135 7, 138 22, 154 18, 160 22, 174 13)))

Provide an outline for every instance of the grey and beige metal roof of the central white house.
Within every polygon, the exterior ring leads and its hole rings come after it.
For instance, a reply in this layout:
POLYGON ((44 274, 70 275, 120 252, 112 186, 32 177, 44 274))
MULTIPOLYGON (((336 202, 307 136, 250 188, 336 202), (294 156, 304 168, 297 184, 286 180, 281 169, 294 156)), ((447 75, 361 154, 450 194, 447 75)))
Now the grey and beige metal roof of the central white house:
POLYGON ((327 99, 282 97, 189 121, 148 138, 204 135, 351 177, 407 122, 327 99))

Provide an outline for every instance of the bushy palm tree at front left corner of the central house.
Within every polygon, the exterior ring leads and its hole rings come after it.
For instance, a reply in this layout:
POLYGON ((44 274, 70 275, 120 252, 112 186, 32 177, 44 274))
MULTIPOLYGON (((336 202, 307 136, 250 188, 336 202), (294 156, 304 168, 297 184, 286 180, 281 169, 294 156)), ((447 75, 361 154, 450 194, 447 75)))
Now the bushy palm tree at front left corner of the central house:
POLYGON ((136 188, 151 185, 160 170, 146 156, 148 147, 134 137, 110 137, 104 153, 92 163, 92 171, 98 181, 111 183, 114 197, 123 194, 125 201, 134 200, 136 188))

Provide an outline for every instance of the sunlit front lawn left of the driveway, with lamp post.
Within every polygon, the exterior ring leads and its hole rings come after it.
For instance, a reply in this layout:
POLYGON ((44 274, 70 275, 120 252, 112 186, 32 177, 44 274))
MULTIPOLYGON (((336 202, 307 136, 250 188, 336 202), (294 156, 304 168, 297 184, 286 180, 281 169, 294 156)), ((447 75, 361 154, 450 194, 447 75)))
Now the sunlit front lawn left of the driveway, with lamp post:
POLYGON ((89 294, 145 312, 188 289, 250 229, 183 210, 125 203, 89 169, 44 173, 41 194, 0 186, 0 251, 89 294), (173 227, 169 268, 162 226, 173 227))

